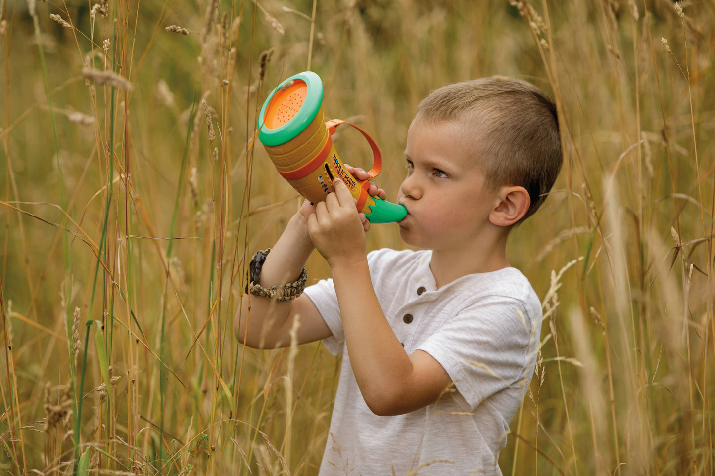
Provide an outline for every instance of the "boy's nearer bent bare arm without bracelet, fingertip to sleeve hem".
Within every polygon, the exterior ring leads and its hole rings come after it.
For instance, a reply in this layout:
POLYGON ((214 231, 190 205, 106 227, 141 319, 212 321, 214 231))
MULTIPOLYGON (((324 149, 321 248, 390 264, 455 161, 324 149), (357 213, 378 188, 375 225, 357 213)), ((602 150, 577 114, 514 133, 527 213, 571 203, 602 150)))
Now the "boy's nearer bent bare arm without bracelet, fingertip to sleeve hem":
POLYGON ((360 219, 342 182, 310 215, 310 238, 330 264, 350 365, 376 415, 400 415, 439 399, 450 377, 427 352, 408 355, 390 328, 370 280, 360 219))

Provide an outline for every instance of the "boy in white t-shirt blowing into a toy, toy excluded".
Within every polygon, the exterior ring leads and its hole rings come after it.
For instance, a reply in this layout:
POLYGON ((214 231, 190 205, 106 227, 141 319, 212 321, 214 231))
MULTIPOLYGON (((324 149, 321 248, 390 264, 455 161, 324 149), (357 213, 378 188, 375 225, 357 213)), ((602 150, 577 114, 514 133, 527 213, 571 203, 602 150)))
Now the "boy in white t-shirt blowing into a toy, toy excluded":
POLYGON ((506 239, 556 180, 558 134, 556 107, 526 81, 445 86, 418 106, 398 192, 400 237, 420 250, 365 254, 369 224, 338 180, 325 202, 303 204, 262 267, 257 254, 240 342, 285 347, 297 321, 297 342, 342 352, 320 475, 501 475, 542 317, 506 239), (300 295, 314 247, 332 279, 300 295))

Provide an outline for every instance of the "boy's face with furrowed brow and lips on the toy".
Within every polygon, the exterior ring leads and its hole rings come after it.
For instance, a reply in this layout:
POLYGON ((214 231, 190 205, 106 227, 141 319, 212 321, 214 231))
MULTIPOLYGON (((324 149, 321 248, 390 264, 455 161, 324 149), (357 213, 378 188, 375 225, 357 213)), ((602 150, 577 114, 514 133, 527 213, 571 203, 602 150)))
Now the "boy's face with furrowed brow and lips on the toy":
POLYGON ((455 122, 413 121, 405 157, 408 174, 398 202, 408 215, 399 223, 407 244, 435 250, 473 249, 484 238, 489 214, 499 204, 477 167, 473 139, 455 122))

